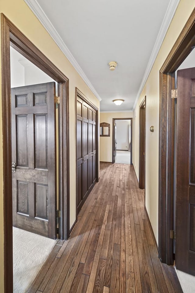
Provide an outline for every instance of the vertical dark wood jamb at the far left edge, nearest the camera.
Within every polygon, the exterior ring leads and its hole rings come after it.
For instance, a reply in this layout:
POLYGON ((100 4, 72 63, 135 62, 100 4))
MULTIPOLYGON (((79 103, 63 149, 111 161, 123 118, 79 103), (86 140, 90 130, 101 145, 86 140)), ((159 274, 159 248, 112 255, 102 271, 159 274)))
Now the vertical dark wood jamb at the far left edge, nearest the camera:
POLYGON ((13 292, 12 248, 12 148, 9 26, 1 14, 3 203, 4 203, 4 292, 13 292))

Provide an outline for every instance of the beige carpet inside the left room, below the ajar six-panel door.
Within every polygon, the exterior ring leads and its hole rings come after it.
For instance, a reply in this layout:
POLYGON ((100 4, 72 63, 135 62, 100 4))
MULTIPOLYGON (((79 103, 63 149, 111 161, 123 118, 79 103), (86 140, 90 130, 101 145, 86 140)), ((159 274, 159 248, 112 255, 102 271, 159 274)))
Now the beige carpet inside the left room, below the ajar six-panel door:
POLYGON ((13 227, 13 292, 25 293, 57 240, 13 227))

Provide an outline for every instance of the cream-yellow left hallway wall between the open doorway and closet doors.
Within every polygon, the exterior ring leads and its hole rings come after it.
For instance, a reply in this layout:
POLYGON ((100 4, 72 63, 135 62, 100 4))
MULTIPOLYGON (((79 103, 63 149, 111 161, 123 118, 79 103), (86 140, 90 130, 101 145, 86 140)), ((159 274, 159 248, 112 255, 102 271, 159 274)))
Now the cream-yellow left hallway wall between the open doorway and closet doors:
MULTIPOLYGON (((75 87, 99 108, 99 101, 66 59, 50 35, 23 0, 0 0, 0 12, 11 20, 69 78, 70 139, 70 227, 76 219, 76 123, 75 87)), ((1 61, 0 61, 1 62, 1 61)), ((0 81, 1 85, 1 81, 0 81)), ((0 99, 2 99, 0 91, 0 99)), ((2 174, 2 110, 0 103, 0 264, 3 263, 3 174, 2 174)), ((3 266, 0 266, 0 292, 3 292, 3 266)))

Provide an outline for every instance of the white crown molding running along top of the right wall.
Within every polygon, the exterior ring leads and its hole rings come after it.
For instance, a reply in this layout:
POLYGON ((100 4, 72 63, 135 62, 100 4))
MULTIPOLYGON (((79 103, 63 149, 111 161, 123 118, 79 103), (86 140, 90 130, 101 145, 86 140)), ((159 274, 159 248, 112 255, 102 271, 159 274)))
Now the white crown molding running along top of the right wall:
POLYGON ((172 22, 173 16, 176 13, 176 9, 177 9, 177 7, 179 5, 179 2, 180 2, 180 0, 170 0, 170 2, 169 2, 165 17, 163 19, 160 31, 158 33, 158 37, 156 39, 156 42, 154 44, 154 48, 152 50, 152 54, 151 54, 149 62, 147 64, 146 71, 144 73, 144 77, 142 79, 139 91, 137 93, 137 97, 136 97, 135 103, 133 105, 133 110, 135 109, 135 107, 137 105, 138 99, 139 99, 139 97, 141 95, 141 92, 142 92, 142 90, 144 88, 144 85, 145 85, 145 83, 147 81, 147 78, 148 78, 148 76, 149 76, 149 74, 151 72, 151 69, 152 69, 153 65, 154 65, 154 62, 155 62, 156 57, 158 55, 158 52, 159 52, 159 50, 161 48, 162 42, 164 41, 165 35, 166 35, 166 33, 168 31, 168 28, 169 28, 169 26, 170 26, 170 24, 172 22))

